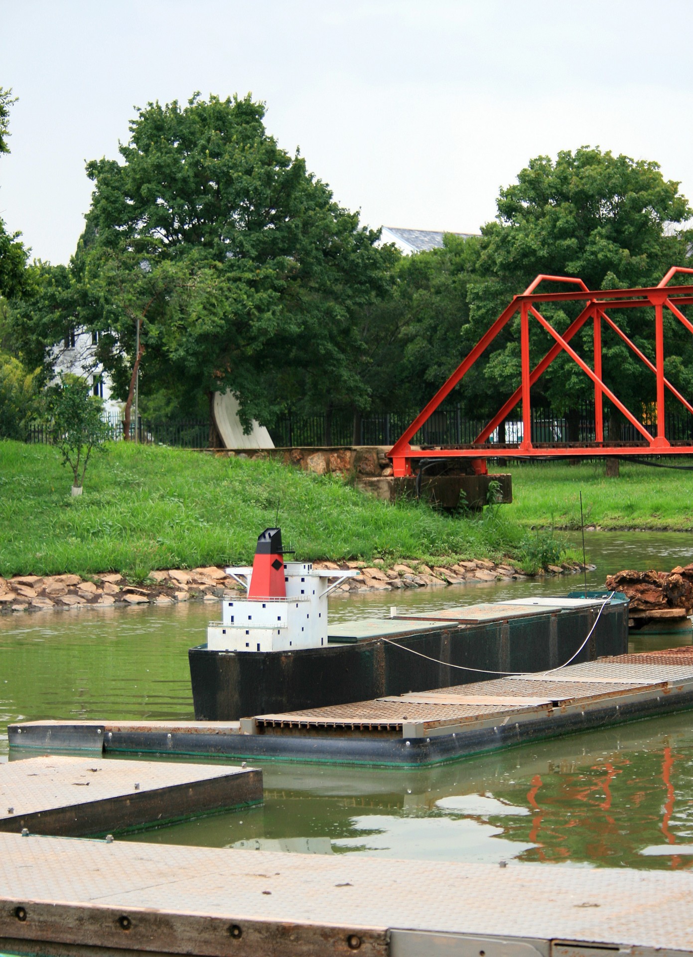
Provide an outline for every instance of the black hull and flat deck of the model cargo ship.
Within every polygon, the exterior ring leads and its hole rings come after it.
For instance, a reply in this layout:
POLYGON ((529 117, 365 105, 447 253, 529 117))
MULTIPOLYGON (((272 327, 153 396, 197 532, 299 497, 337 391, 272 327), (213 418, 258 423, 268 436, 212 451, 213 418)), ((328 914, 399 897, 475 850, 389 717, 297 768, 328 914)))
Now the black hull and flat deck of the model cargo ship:
POLYGON ((555 668, 578 650, 578 661, 628 650, 625 595, 589 592, 395 613, 330 623, 324 646, 264 652, 200 645, 190 648, 189 660, 195 718, 216 722, 555 668))

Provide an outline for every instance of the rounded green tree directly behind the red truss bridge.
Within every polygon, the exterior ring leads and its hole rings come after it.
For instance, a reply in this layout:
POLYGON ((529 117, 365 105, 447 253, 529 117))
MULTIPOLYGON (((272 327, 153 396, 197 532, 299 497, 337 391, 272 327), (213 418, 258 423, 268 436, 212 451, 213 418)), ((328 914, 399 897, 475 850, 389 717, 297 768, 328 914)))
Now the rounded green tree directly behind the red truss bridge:
MULTIPOLYGON (((681 225, 690 215, 679 183, 665 180, 657 163, 589 147, 560 152, 555 160, 531 160, 517 183, 501 190, 498 216, 481 231, 477 275, 468 290, 469 327, 463 326, 463 334, 479 338, 512 296, 540 273, 579 277, 592 289, 656 284, 670 265, 687 260, 690 234, 681 225)), ((543 288, 557 289, 550 284, 543 288)), ((544 311, 563 331, 578 308, 547 305, 544 311)), ((651 311, 621 311, 617 319, 654 359, 651 311)), ((518 314, 469 379, 475 402, 481 400, 489 412, 500 404, 499 393, 519 384, 519 324, 518 314)), ((531 328, 534 362, 552 341, 536 323, 531 328)), ((574 346, 592 362, 589 328, 574 346)), ((674 321, 666 323, 666 349, 671 357, 667 371, 685 389, 693 353, 690 336, 674 321)), ((604 333, 603 356, 605 380, 620 398, 634 409, 652 400, 654 376, 615 333, 604 333)), ((588 377, 561 354, 533 392, 537 401, 565 412, 570 424, 592 388, 588 377)))

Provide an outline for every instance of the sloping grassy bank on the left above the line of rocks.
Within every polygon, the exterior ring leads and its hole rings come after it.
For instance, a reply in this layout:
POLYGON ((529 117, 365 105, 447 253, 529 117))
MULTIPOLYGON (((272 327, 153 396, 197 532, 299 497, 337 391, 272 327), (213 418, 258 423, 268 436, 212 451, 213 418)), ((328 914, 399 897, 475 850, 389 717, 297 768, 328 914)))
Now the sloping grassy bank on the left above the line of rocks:
POLYGON ((155 568, 247 564, 278 504, 284 546, 309 560, 509 556, 531 570, 560 556, 560 543, 527 533, 509 509, 458 518, 386 505, 272 461, 117 443, 90 464, 83 496, 71 498, 70 484, 53 448, 0 441, 0 574, 144 579, 155 568))

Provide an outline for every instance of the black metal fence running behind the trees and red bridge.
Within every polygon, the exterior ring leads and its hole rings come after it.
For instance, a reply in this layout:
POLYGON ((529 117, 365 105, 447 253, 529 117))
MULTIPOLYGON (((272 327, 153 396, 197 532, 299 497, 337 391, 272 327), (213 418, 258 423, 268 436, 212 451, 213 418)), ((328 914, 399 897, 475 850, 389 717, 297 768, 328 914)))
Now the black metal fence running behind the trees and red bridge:
MULTIPOLYGON (((414 420, 417 412, 375 412, 356 422, 351 412, 331 412, 315 415, 295 413, 281 416, 269 433, 276 446, 348 446, 391 445, 414 420), (356 435, 354 434, 356 431, 356 435), (354 441, 356 439, 356 441, 354 441)), ((645 427, 656 433, 657 424, 650 411, 641 418, 645 427)), ((118 414, 105 416, 111 437, 123 438, 123 420, 118 414)), ((412 439, 413 445, 469 445, 485 426, 481 419, 468 418, 460 406, 436 410, 412 439)), ((604 418, 605 438, 614 442, 637 442, 643 436, 630 422, 621 419, 617 434, 610 435, 608 417, 604 418)), ((693 415, 690 412, 667 412, 666 437, 672 442, 693 441, 693 415)), ((171 445, 187 449, 205 449, 210 445, 210 423, 207 419, 178 419, 169 422, 151 422, 140 417, 135 433, 135 422, 130 423, 130 437, 148 445, 171 445)), ((514 444, 522 441, 523 422, 517 416, 508 418, 501 429, 489 435, 487 441, 495 444, 514 444)), ((594 410, 585 405, 569 419, 545 409, 532 410, 532 442, 593 442, 594 410)), ((51 443, 51 427, 34 423, 27 430, 27 442, 51 443)))

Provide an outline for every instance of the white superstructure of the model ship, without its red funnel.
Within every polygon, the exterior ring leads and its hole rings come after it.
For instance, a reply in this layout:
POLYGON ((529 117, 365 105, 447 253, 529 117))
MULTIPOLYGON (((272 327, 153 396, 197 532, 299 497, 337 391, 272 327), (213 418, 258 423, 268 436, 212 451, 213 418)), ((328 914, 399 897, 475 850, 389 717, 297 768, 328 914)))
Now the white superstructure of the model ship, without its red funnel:
MULTIPOLYGON (((252 568, 227 568, 246 590, 252 568)), ((225 598, 221 621, 207 629, 207 647, 216 652, 286 652, 327 644, 327 595, 358 571, 313 568, 312 562, 285 562, 285 598, 225 598), (331 584, 330 584, 331 582, 331 584)))

